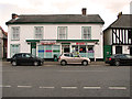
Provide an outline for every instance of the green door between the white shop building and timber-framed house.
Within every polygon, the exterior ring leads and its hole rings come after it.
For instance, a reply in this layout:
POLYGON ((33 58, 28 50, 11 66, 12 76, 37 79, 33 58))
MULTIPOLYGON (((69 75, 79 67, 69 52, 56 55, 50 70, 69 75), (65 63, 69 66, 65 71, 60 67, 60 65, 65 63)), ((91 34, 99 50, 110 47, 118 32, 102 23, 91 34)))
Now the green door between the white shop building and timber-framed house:
POLYGON ((105 45, 103 46, 103 59, 106 61, 106 57, 110 57, 111 55, 112 55, 112 46, 105 45))

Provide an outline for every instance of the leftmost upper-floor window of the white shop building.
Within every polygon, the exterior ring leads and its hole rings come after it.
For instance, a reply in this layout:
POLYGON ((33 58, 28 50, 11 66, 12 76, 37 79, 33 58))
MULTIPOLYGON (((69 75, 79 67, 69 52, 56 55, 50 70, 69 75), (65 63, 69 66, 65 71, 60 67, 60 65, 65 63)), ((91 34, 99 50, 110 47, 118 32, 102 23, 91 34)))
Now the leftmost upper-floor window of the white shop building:
POLYGON ((20 40, 20 28, 12 26, 11 40, 20 40))

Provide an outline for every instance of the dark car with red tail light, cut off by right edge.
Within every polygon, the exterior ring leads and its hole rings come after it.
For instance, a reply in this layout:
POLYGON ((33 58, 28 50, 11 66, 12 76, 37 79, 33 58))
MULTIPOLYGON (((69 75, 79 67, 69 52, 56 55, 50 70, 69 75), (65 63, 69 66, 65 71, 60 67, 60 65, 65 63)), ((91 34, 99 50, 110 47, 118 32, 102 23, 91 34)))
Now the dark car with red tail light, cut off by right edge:
POLYGON ((106 58, 106 64, 110 65, 132 65, 132 55, 129 54, 114 54, 106 58))

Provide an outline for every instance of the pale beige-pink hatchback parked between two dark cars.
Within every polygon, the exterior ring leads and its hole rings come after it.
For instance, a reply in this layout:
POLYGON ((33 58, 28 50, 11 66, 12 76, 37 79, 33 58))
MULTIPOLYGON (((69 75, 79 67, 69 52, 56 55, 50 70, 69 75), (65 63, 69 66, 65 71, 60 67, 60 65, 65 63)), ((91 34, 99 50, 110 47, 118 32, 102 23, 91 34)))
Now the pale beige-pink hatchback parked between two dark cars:
POLYGON ((65 66, 67 64, 82 64, 87 66, 90 64, 90 59, 87 57, 80 57, 78 54, 73 53, 64 53, 59 56, 59 63, 62 66, 65 66))

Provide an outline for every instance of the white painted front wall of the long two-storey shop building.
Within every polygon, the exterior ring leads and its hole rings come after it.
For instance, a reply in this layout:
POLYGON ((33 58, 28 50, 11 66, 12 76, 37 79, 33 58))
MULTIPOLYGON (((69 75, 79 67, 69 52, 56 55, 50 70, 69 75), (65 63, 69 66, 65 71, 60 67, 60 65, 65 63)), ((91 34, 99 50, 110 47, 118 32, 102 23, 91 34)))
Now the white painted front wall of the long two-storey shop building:
POLYGON ((103 58, 103 35, 102 25, 100 24, 21 24, 9 25, 8 32, 8 58, 10 58, 10 44, 20 44, 21 53, 30 53, 31 46, 25 41, 34 40, 34 26, 43 26, 43 40, 57 40, 57 28, 67 26, 67 40, 81 40, 81 26, 91 26, 91 40, 99 40, 99 44, 95 46, 96 57, 103 58), (11 41, 11 28, 20 26, 20 41, 11 41))

